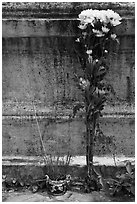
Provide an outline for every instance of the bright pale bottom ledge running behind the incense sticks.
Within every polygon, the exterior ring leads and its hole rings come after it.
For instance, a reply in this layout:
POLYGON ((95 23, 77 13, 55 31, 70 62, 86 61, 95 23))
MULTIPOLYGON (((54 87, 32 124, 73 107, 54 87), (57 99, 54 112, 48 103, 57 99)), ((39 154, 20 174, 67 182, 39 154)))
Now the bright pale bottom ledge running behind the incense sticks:
MULTIPOLYGON (((60 157, 60 160, 65 159, 65 157, 60 157)), ((47 164, 48 161, 50 162, 51 157, 47 157, 47 164)), ((54 160, 56 163, 55 157, 53 157, 53 164, 54 160)), ((117 166, 125 166, 127 161, 130 161, 132 165, 135 165, 135 157, 125 157, 123 155, 118 155, 115 158, 117 166)), ((93 158, 93 164, 96 165, 106 165, 106 166, 115 166, 114 158, 111 156, 94 156, 93 158)), ((2 157, 2 165, 3 166, 45 166, 45 162, 43 157, 37 156, 3 156, 2 157)), ((70 166, 85 166, 86 165, 86 157, 85 156, 74 156, 70 160, 70 166)))

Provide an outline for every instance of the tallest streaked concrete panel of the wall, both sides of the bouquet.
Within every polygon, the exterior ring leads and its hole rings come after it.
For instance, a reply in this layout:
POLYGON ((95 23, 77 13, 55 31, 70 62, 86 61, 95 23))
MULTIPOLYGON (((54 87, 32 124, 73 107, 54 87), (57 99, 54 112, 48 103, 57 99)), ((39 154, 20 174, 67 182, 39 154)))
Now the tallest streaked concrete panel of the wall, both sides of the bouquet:
MULTIPOLYGON (((74 72, 82 75, 74 53, 75 38, 3 38, 3 102, 82 100, 74 72)), ((116 101, 134 102, 134 36, 120 37, 120 47, 110 53, 108 82, 116 101)))

